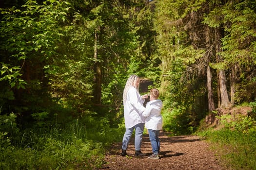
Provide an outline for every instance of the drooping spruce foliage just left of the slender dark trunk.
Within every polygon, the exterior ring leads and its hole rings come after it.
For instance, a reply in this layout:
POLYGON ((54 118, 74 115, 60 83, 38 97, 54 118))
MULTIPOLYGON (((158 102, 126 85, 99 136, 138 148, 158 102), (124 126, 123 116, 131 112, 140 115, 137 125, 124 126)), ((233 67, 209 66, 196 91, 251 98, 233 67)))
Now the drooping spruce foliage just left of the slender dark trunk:
POLYGON ((92 98, 91 71, 84 70, 87 67, 85 61, 65 59, 62 65, 65 67, 49 65, 45 68, 49 76, 49 85, 52 87, 50 93, 59 104, 76 109, 80 115, 86 115, 89 107, 84 103, 89 104, 92 98))

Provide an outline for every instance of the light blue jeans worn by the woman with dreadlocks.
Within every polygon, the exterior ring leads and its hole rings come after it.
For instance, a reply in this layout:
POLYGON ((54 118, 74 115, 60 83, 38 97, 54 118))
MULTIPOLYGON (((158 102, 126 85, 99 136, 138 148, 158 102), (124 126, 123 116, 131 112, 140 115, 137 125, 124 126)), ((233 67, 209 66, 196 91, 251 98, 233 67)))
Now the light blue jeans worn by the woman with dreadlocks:
POLYGON ((135 129, 135 140, 134 140, 135 150, 140 151, 140 145, 141 145, 142 135, 144 130, 144 123, 138 123, 137 125, 125 130, 123 141, 122 141, 122 150, 127 150, 128 144, 131 136, 133 135, 134 129, 135 129))

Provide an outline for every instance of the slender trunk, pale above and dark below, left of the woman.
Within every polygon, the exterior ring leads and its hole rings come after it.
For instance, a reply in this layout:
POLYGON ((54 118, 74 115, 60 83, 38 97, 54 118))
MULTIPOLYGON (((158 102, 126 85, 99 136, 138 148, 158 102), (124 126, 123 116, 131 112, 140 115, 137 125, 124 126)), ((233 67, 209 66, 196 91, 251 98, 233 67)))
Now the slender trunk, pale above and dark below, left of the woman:
POLYGON ((101 69, 100 69, 100 63, 97 60, 97 31, 94 33, 95 35, 95 41, 94 41, 94 102, 96 104, 101 104, 101 69))

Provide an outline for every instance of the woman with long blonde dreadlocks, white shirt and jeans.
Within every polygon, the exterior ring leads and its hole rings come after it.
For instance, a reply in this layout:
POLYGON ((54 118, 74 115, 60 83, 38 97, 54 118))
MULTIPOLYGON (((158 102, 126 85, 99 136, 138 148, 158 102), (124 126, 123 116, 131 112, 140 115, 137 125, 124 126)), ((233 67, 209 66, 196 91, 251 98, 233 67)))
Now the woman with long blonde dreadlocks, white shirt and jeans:
POLYGON ((126 150, 134 129, 135 155, 145 156, 145 154, 140 151, 140 145, 145 124, 145 118, 142 116, 142 112, 145 110, 143 102, 145 101, 145 98, 148 98, 148 95, 140 96, 138 88, 139 77, 137 75, 131 75, 126 82, 123 91, 124 122, 126 130, 122 140, 122 156, 127 155, 126 150))

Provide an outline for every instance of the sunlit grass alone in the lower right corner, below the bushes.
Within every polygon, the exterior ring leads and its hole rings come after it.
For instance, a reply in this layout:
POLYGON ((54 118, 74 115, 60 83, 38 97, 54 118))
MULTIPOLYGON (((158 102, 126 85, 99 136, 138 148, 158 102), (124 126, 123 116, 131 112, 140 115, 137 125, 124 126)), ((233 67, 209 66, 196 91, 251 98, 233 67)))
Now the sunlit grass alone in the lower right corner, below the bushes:
POLYGON ((256 126, 248 133, 222 129, 208 130, 199 135, 210 140, 217 156, 221 157, 224 166, 232 170, 254 170, 256 167, 256 126))

